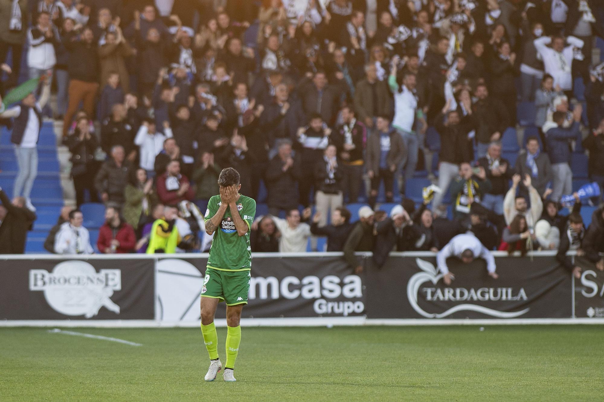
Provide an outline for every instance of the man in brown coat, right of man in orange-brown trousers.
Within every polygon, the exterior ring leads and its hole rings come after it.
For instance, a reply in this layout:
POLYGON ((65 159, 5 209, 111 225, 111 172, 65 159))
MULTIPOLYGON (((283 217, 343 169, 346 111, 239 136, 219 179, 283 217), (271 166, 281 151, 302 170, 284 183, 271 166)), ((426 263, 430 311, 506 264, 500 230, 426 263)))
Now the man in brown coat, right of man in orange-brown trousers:
POLYGON ((124 39, 119 27, 115 32, 108 32, 105 36, 105 43, 98 47, 98 58, 101 64, 100 84, 104 86, 112 72, 120 75, 120 85, 124 93, 130 92, 130 76, 126 69, 126 57, 134 53, 128 42, 124 39))

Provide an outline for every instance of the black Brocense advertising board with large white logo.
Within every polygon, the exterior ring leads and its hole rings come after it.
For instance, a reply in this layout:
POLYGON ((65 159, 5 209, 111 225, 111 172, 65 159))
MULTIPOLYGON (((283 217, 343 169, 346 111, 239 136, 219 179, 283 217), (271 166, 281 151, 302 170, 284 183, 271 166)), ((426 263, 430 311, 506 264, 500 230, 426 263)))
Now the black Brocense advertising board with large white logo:
POLYGON ((154 261, 0 260, 0 319, 154 319, 154 261))

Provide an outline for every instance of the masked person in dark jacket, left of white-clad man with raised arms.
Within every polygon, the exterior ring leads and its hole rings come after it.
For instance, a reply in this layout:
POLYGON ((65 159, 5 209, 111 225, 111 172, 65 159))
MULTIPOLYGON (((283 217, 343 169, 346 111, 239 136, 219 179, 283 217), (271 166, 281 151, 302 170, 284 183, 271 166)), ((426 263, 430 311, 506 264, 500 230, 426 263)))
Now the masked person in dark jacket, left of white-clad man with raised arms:
POLYGON ((522 63, 520 65, 520 77, 522 80, 522 101, 528 102, 535 99, 535 91, 541 86, 543 78, 543 60, 539 57, 533 40, 541 37, 543 34, 543 25, 541 22, 534 22, 531 25, 526 18, 526 13, 522 13, 522 31, 526 32, 522 43, 522 63))

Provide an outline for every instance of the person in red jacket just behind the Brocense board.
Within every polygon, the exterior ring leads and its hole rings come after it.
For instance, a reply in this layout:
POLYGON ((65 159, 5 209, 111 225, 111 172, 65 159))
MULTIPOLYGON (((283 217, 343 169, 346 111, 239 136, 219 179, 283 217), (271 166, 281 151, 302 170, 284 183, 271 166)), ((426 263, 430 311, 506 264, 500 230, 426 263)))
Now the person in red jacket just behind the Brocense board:
POLYGON ((132 226, 120 217, 120 212, 112 206, 105 210, 105 223, 98 231, 97 248, 103 254, 131 253, 137 244, 132 226))

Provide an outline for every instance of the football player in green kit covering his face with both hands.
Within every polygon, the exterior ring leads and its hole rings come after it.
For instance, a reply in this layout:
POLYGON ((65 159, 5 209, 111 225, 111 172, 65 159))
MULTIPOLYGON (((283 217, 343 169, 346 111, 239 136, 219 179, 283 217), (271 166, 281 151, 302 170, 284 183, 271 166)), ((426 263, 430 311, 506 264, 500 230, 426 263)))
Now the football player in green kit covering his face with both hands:
POLYGON ((233 168, 220 172, 220 195, 213 196, 205 211, 205 232, 214 234, 210 257, 201 290, 201 331, 210 354, 210 368, 206 381, 214 381, 222 369, 218 358, 218 337, 214 314, 220 301, 226 302, 226 364, 225 381, 236 381, 233 376, 235 359, 241 341, 241 311, 248 304, 252 252, 249 230, 254 222, 256 202, 239 194, 239 173, 233 168))

